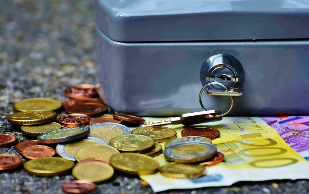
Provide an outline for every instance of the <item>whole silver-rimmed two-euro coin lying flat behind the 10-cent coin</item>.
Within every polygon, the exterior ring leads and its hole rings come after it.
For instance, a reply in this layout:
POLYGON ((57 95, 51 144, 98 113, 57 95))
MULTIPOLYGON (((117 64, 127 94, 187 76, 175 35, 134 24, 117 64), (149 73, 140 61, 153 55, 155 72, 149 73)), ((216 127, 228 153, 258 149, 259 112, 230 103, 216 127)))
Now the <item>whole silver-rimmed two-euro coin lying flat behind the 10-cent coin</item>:
POLYGON ((131 134, 128 127, 118 123, 97 123, 88 127, 90 128, 89 136, 103 139, 106 142, 120 135, 131 134))

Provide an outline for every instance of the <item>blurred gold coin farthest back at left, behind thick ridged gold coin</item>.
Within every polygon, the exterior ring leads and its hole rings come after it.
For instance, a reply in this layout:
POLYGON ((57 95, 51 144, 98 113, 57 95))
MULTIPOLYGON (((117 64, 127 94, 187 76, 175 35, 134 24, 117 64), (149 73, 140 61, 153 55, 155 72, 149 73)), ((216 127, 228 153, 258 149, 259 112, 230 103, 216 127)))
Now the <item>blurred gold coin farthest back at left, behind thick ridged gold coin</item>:
POLYGON ((14 109, 18 111, 29 110, 57 110, 61 102, 52 98, 27 98, 14 103, 14 109))

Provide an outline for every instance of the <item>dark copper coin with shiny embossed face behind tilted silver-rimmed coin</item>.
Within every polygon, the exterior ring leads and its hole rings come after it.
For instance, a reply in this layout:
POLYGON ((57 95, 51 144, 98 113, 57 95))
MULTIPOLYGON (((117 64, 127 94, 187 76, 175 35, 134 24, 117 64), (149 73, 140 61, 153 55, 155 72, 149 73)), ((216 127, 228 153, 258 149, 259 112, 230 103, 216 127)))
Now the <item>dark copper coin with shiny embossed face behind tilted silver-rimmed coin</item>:
POLYGON ((84 114, 66 114, 58 118, 58 122, 67 127, 85 126, 91 117, 84 114))

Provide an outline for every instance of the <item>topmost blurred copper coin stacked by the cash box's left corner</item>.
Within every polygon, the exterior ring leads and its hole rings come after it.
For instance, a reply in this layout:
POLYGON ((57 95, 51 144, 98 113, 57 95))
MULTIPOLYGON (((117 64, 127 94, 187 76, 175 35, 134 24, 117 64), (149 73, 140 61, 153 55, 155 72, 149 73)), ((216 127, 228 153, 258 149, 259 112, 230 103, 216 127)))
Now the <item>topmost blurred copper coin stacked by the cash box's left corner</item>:
POLYGON ((68 86, 64 90, 65 97, 75 99, 88 99, 97 95, 95 85, 79 84, 75 86, 68 86))

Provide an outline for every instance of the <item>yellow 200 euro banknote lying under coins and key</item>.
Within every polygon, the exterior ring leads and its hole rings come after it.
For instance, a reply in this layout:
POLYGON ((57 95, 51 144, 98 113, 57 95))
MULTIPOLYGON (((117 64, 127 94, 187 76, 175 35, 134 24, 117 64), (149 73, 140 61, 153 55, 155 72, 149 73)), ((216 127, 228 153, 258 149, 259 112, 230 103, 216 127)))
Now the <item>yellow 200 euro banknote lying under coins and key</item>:
MULTIPOLYGON (((307 160, 261 118, 224 117, 222 121, 197 126, 209 126, 220 131, 220 138, 214 139, 213 144, 225 155, 225 161, 206 167, 206 175, 194 179, 173 179, 159 172, 140 176, 154 192, 229 186, 239 181, 309 179, 307 160)), ((181 130, 188 128, 182 125, 167 127, 175 129, 177 137, 181 137, 181 130)), ((164 147, 164 143, 161 144, 164 147)), ((163 154, 155 159, 160 165, 167 163, 163 154)))

